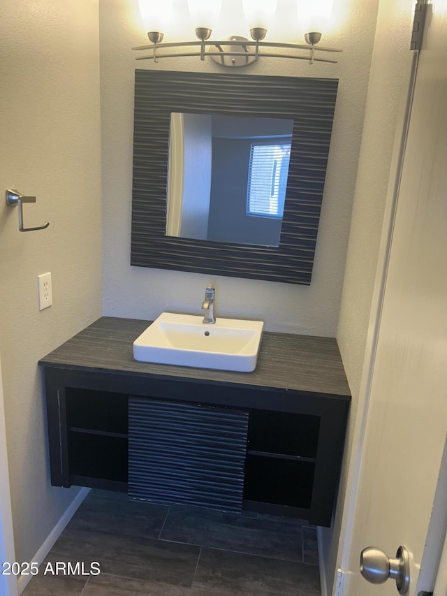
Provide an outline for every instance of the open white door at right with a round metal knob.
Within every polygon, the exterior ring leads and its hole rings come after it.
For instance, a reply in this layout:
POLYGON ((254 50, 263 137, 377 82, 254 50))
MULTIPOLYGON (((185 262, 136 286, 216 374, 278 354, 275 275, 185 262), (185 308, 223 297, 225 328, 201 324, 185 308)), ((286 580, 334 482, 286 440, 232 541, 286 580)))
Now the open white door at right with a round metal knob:
POLYGON ((417 586, 418 572, 447 432, 447 0, 427 15, 372 367, 338 593, 396 595, 392 579, 360 576, 360 551, 376 546, 394 558, 402 545, 413 596, 429 589, 417 586))

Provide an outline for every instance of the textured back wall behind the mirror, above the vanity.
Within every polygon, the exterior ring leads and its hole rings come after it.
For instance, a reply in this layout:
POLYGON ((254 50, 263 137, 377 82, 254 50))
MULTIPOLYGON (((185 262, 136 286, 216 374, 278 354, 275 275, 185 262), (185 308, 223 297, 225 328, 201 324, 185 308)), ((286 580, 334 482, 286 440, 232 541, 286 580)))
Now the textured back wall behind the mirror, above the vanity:
MULTIPOLYGON (((188 16, 175 3, 177 21, 166 41, 180 31, 193 37, 188 16), (186 24, 185 24, 186 23, 186 24)), ((186 5, 186 2, 184 2, 186 5)), ((240 22, 240 3, 224 3, 226 31, 216 35, 248 35, 240 22), (232 23, 228 25, 228 23, 232 23)), ((103 180, 103 312, 117 317, 153 319, 163 310, 200 312, 208 282, 217 286, 217 315, 261 318, 267 330, 314 335, 335 335, 342 294, 349 222, 356 183, 358 152, 365 110, 369 64, 374 41, 377 0, 335 2, 334 31, 325 45, 344 49, 339 64, 263 59, 244 73, 254 75, 318 76, 339 78, 335 125, 323 198, 312 285, 294 286, 215 275, 130 267, 131 187, 133 141, 133 77, 135 68, 219 72, 211 60, 167 59, 159 64, 135 61, 135 45, 147 43, 140 24, 137 0, 100 0, 101 126, 103 180), (340 25, 342 22, 342 25, 340 25), (287 313, 287 317, 284 317, 287 313)), ((291 30, 294 3, 279 3, 286 27, 272 24, 271 39, 302 41, 291 30)), ((269 31, 270 33, 270 31, 269 31)))

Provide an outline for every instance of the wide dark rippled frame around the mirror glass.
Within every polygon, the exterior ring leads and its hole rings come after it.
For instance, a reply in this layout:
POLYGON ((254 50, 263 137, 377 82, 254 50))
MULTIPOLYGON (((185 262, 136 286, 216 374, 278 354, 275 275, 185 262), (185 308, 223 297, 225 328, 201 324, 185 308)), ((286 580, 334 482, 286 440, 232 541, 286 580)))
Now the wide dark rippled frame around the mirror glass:
MULTIPOLYGON (((337 85, 337 79, 136 70, 131 265, 310 284, 337 85), (173 113, 293 121, 278 246, 166 235, 173 113)), ((236 179, 232 173, 229 159, 228 179, 236 179)), ((237 191, 247 203, 244 184, 225 190, 221 201, 230 203, 237 191)))

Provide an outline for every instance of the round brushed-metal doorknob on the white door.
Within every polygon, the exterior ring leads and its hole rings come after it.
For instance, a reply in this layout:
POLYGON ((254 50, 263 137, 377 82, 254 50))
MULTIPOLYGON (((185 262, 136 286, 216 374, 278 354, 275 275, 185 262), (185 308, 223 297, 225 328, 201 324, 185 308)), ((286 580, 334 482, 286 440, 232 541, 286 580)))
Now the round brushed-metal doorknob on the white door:
POLYGON ((368 546, 360 554, 360 573, 370 583, 395 579, 399 593, 406 594, 410 585, 409 553, 404 546, 400 546, 396 558, 391 559, 380 548, 368 546))

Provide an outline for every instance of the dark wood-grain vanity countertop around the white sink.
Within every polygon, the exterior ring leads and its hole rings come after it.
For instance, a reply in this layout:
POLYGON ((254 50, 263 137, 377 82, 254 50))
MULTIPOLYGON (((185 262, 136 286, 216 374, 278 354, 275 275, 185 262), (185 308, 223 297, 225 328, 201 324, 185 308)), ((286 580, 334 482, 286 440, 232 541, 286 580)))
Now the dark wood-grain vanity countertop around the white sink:
POLYGON ((157 379, 203 380, 208 384, 275 388, 351 399, 335 338, 265 332, 256 370, 229 372, 135 361, 133 342, 151 322, 101 317, 42 358, 39 365, 157 379))

